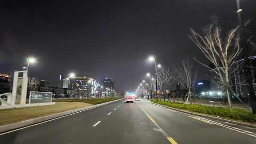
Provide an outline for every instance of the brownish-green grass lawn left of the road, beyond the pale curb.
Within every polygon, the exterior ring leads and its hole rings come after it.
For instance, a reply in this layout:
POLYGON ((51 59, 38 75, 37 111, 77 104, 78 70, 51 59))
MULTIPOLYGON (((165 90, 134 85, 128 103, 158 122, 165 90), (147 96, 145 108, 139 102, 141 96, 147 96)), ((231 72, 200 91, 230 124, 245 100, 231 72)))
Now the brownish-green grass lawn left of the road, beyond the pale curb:
POLYGON ((85 108, 91 105, 100 104, 121 98, 109 99, 56 99, 55 105, 37 106, 26 108, 8 108, 0 109, 0 126, 16 123, 37 117, 44 117, 56 113, 61 113, 77 108, 85 108))

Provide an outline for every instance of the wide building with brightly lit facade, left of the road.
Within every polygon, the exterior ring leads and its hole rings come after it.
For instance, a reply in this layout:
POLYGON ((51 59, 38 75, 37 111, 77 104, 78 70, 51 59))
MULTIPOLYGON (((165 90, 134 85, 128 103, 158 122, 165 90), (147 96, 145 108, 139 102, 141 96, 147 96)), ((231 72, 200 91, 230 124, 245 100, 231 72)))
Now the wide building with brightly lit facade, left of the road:
POLYGON ((99 81, 87 77, 69 77, 63 80, 63 88, 72 97, 99 97, 99 81))

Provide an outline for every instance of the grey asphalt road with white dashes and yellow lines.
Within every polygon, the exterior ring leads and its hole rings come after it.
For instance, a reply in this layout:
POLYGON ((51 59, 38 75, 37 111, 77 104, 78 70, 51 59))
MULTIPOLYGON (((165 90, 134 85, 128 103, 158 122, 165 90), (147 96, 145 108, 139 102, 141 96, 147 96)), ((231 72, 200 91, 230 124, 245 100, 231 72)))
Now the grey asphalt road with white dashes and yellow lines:
POLYGON ((0 144, 256 144, 255 128, 124 102, 0 134, 0 144))

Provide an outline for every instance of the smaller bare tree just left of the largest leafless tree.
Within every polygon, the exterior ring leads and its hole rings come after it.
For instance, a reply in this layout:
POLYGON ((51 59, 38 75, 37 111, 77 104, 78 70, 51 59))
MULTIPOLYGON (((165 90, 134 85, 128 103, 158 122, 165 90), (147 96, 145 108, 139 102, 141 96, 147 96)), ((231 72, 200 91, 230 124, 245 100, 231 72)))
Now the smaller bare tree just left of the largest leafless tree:
POLYGON ((188 100, 191 102, 191 96, 193 95, 192 87, 194 86, 197 76, 197 71, 194 74, 192 73, 193 65, 194 61, 188 57, 187 59, 182 60, 182 66, 174 69, 175 74, 177 75, 174 79, 180 82, 181 85, 188 90, 186 93, 186 103, 188 103, 188 100))

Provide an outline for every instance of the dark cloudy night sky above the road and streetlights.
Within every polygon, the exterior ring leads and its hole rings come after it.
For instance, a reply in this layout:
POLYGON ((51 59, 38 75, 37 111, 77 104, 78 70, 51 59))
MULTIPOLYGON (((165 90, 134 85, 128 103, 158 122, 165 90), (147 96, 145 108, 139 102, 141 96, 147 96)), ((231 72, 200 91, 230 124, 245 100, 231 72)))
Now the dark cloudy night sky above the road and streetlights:
MULTIPOLYGON (((214 14, 224 28, 238 23, 236 0, 37 1, 0 2, 0 72, 20 70, 34 56, 29 75, 53 84, 75 72, 135 90, 153 71, 148 55, 171 70, 187 56, 208 63, 188 38, 191 27, 200 31, 214 14)), ((242 8, 256 34, 256 0, 242 0, 242 8)), ((197 67, 198 79, 207 79, 208 70, 197 67)))

